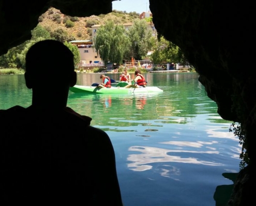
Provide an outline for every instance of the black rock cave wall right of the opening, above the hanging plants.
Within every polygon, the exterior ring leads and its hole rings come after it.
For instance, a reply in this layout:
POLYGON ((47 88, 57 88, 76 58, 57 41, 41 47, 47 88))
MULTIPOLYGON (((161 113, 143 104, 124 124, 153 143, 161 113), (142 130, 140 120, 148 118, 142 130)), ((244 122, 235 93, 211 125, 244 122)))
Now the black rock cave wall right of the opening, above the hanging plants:
MULTIPOLYGON (((183 50, 220 116, 242 123, 249 134, 256 126, 256 78, 250 62, 255 56, 255 6, 244 1, 149 3, 158 33, 183 50)), ((247 138, 255 142, 254 136, 247 138)), ((254 162, 253 148, 247 150, 254 162)))

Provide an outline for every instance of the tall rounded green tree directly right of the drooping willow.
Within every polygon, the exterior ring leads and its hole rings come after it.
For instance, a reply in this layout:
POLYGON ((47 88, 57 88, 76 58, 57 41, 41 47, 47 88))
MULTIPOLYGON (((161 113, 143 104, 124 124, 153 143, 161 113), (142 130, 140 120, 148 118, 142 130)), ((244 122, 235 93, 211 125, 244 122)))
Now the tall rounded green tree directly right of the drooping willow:
POLYGON ((152 50, 154 37, 152 29, 148 27, 145 20, 134 20, 133 25, 128 29, 128 37, 131 44, 126 59, 134 57, 136 60, 141 60, 149 50, 152 50))

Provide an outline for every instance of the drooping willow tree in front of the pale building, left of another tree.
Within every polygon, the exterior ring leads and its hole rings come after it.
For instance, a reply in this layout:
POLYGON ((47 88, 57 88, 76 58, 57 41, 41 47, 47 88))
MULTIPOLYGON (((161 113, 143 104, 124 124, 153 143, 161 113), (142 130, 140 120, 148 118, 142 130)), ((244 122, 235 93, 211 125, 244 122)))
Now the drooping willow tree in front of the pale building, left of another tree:
POLYGON ((112 21, 99 27, 93 41, 94 48, 105 65, 107 62, 122 64, 130 45, 125 27, 115 25, 112 21))

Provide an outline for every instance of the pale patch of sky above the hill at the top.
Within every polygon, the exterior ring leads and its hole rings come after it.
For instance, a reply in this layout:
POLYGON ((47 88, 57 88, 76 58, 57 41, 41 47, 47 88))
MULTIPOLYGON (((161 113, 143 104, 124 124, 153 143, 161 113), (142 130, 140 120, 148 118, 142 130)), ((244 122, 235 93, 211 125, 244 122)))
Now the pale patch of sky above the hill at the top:
POLYGON ((142 13, 149 11, 149 0, 121 0, 112 2, 112 10, 142 13))

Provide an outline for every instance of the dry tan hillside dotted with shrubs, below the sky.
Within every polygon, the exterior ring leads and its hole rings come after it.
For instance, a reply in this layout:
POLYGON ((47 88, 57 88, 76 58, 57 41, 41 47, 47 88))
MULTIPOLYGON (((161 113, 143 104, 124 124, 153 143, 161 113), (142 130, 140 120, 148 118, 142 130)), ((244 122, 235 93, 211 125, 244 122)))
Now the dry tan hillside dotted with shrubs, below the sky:
POLYGON ((89 17, 67 16, 55 8, 49 8, 43 13, 38 21, 41 26, 48 31, 54 31, 58 28, 63 29, 75 40, 91 40, 91 26, 96 24, 104 24, 107 21, 114 21, 116 24, 132 23, 134 19, 139 18, 139 13, 116 11, 108 14, 92 15, 89 17))

